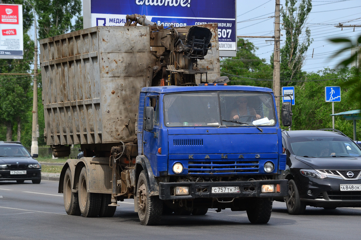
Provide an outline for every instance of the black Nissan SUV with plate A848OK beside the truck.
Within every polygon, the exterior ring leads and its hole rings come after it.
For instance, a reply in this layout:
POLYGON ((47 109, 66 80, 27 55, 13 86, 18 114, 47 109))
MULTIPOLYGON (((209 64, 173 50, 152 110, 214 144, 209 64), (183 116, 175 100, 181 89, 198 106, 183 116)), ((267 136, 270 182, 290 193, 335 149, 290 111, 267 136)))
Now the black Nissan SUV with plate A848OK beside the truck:
POLYGON ((287 154, 285 201, 289 214, 303 214, 306 205, 335 209, 361 207, 361 148, 335 129, 282 132, 287 154))

